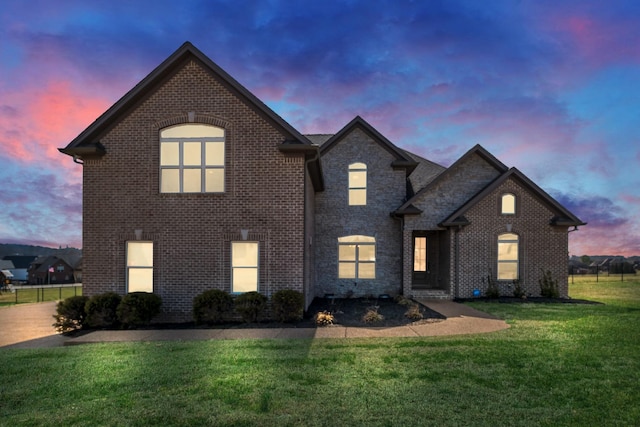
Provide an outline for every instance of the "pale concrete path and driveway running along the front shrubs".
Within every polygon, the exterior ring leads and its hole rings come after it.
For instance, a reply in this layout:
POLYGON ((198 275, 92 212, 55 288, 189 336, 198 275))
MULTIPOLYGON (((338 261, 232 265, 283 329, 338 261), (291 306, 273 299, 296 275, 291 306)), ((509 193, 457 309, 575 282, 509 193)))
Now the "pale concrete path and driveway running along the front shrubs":
POLYGON ((446 320, 393 328, 265 328, 92 331, 78 337, 55 333, 55 303, 0 308, 0 347, 39 348, 125 341, 189 341, 211 339, 429 337, 495 332, 509 327, 503 320, 452 301, 420 300, 446 320))

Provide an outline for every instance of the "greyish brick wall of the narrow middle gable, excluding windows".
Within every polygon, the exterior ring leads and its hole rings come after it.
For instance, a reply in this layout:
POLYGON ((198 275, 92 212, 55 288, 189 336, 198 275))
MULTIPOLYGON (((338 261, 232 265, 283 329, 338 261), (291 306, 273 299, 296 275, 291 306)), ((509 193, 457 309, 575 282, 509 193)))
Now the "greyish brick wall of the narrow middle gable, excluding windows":
POLYGON ((404 170, 394 170, 395 157, 359 128, 354 128, 322 156, 324 192, 316 194, 316 293, 344 297, 400 292, 402 281, 400 221, 390 213, 404 201, 404 170), (367 204, 349 206, 348 168, 367 165, 367 204), (338 237, 373 236, 376 239, 376 278, 338 278, 338 237))

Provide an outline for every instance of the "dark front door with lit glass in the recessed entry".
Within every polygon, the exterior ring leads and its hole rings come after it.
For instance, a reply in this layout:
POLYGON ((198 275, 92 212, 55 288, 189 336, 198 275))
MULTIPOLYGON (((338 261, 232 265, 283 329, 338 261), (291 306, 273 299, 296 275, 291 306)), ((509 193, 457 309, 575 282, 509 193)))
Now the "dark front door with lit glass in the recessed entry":
POLYGON ((439 238, 437 233, 415 232, 413 234, 414 289, 438 288, 439 238))

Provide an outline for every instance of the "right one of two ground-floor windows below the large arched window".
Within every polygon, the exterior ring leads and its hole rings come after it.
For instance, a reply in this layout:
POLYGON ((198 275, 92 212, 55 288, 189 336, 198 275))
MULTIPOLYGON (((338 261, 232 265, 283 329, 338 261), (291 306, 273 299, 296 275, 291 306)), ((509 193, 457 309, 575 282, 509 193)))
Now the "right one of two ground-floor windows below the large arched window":
POLYGON ((258 242, 231 242, 231 292, 258 290, 258 242))

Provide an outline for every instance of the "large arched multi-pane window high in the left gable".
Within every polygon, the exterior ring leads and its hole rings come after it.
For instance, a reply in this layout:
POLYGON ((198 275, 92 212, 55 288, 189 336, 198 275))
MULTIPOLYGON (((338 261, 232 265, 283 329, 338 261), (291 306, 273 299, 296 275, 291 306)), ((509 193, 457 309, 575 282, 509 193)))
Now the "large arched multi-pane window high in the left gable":
POLYGON ((198 123, 160 131, 161 193, 224 192, 224 129, 198 123))

